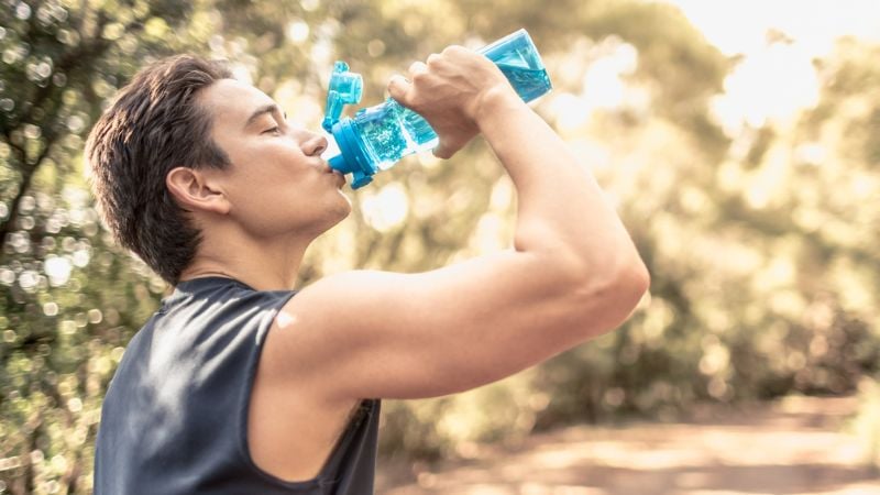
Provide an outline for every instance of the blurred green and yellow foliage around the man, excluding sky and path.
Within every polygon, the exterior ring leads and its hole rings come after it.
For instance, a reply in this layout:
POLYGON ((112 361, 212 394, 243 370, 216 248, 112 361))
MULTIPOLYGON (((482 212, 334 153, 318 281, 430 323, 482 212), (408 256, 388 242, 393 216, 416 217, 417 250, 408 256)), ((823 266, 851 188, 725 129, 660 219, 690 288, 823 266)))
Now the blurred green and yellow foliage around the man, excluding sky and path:
MULTIPOLYGON (((317 128, 336 58, 364 74, 369 106, 392 74, 450 43, 525 26, 541 50, 556 89, 536 110, 616 201, 650 267, 650 297, 620 330, 528 372, 387 403, 386 455, 466 455, 475 441, 672 417, 696 400, 851 393, 880 373, 878 47, 846 41, 817 61, 822 98, 796 124, 725 133, 710 109, 736 61, 657 3, 0 6, 0 493, 90 491, 101 397, 166 287, 101 226, 84 139, 138 68, 177 52, 229 59, 317 128), (584 106, 603 67, 623 97, 584 106)), ((513 233, 513 186, 480 141, 450 162, 407 158, 352 197, 352 218, 316 242, 301 284, 350 268, 431 270, 507 248, 513 233)))

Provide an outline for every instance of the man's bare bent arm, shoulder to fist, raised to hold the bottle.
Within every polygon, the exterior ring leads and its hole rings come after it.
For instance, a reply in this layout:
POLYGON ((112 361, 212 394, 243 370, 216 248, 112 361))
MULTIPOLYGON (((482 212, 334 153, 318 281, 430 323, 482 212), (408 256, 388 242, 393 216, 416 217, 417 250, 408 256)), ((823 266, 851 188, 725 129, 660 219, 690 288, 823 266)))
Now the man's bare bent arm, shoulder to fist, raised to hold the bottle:
POLYGON ((513 250, 421 274, 355 271, 290 299, 272 354, 336 398, 416 398, 508 376, 626 320, 649 276, 587 168, 486 58, 450 47, 396 78, 451 156, 482 132, 518 195, 513 250), (284 358, 280 358, 284 356, 284 358))

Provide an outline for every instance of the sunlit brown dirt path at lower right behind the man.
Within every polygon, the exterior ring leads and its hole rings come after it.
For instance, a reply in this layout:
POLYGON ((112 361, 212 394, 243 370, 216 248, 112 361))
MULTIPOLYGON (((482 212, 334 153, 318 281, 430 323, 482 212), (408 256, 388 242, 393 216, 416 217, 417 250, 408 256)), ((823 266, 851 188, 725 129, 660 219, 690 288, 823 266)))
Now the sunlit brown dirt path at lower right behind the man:
POLYGON ((572 427, 517 449, 480 447, 436 466, 380 466, 377 494, 880 495, 857 439, 855 403, 788 399, 693 421, 572 427))

